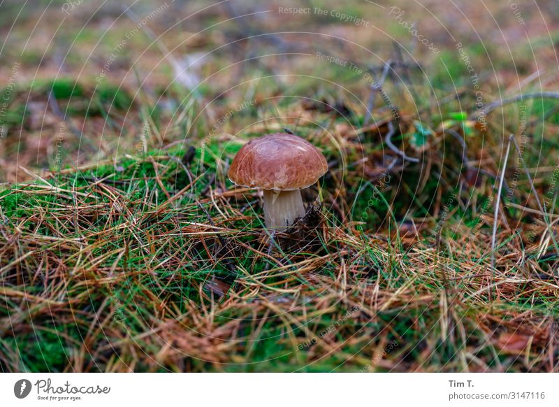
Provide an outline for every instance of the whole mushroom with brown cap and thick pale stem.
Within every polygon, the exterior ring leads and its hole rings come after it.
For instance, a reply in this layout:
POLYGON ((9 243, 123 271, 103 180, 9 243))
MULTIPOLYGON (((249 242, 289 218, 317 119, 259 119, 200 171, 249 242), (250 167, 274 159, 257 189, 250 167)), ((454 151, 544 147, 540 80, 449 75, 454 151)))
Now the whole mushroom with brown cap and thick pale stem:
POLYGON ((294 134, 267 134, 243 145, 228 171, 231 182, 264 190, 264 221, 282 231, 305 215, 300 190, 328 171, 324 155, 294 134))

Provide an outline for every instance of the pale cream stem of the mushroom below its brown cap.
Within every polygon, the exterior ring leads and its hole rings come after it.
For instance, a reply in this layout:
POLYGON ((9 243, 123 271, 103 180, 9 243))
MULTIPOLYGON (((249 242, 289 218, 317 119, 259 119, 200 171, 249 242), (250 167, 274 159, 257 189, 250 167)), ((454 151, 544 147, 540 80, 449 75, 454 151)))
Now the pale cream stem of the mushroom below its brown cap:
POLYGON ((264 221, 268 229, 285 230, 304 215, 300 190, 264 190, 264 221))

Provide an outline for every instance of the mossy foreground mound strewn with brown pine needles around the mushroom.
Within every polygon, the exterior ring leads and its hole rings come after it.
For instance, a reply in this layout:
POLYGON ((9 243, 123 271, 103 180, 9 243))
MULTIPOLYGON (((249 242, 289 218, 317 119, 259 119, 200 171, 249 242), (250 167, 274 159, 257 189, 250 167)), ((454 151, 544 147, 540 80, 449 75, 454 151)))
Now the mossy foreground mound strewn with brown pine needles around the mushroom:
POLYGON ((186 167, 183 153, 2 192, 3 370, 553 369, 557 287, 526 276, 545 267, 533 250, 520 265, 504 255, 507 231, 495 301, 488 227, 472 239, 444 225, 437 252, 428 235, 363 234, 324 209, 300 250, 268 254, 256 192, 208 182, 215 156, 198 149, 186 167))

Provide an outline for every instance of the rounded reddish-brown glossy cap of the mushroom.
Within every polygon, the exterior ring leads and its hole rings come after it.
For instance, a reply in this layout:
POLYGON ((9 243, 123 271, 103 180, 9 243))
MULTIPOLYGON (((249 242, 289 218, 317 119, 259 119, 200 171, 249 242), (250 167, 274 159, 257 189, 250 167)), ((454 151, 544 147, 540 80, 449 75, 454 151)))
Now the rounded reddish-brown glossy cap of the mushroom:
POLYGON ((326 171, 326 159, 314 145, 293 134, 276 133, 243 145, 227 176, 243 187, 291 191, 310 187, 326 171))

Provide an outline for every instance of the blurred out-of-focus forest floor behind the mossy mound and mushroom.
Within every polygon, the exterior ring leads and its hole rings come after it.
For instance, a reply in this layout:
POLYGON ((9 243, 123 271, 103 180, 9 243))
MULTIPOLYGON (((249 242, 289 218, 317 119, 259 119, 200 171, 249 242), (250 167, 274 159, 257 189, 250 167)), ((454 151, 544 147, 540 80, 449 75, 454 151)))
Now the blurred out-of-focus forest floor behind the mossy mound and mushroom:
MULTIPOLYGON (((392 103, 439 124, 449 119, 440 101, 474 113, 480 100, 553 89, 558 8, 551 0, 3 1, 0 180, 133 155, 138 145, 257 133, 278 114, 283 124, 328 127, 335 108, 347 120, 332 125, 351 131, 386 120, 392 103), (386 62, 389 103, 370 96, 386 62)), ((549 101, 533 104, 535 115, 549 113, 549 101)), ((503 126, 516 130, 514 115, 493 117, 500 131, 485 142, 495 151, 503 126)), ((557 122, 546 116, 549 131, 557 122)))

